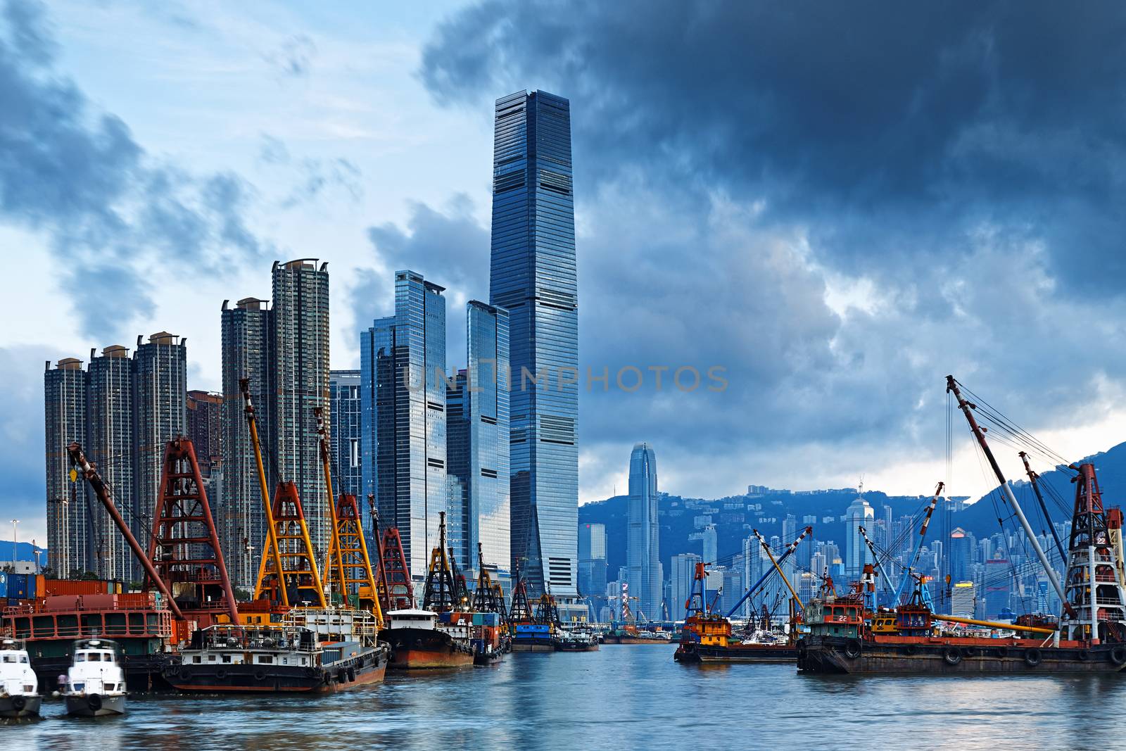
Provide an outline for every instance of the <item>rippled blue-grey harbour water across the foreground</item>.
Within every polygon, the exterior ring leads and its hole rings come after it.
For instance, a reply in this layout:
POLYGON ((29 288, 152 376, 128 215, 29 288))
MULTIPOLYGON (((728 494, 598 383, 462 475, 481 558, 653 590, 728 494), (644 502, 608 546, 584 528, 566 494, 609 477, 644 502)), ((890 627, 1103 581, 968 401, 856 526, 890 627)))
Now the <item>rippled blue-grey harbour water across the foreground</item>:
POLYGON ((0 727, 5 749, 1123 748, 1126 676, 824 677, 686 667, 672 646, 507 655, 323 697, 131 697, 0 727))

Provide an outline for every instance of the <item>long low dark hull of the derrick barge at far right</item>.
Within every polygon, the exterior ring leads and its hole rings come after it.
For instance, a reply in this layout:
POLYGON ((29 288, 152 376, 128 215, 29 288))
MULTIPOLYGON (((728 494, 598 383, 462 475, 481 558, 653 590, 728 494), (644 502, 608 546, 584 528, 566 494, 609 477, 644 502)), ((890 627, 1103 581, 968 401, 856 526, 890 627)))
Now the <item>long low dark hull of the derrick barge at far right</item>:
POLYGON ((1126 646, 1040 646, 1031 640, 854 640, 806 636, 797 645, 797 668, 837 674, 1044 674, 1118 672, 1126 646))

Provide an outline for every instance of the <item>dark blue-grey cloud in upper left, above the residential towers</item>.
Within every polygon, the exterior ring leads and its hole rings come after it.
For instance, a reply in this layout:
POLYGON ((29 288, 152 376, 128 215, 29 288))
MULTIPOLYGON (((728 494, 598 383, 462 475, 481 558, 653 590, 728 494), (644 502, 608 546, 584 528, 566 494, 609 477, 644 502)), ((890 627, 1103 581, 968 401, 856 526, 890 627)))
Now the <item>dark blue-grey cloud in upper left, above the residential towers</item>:
POLYGON ((42 6, 10 0, 0 27, 0 221, 44 232, 62 290, 90 337, 110 340, 152 311, 170 266, 217 267, 267 249, 247 227, 249 186, 148 157, 53 68, 42 6), (153 269, 162 269, 154 274, 153 269), (91 285, 100 284, 100 287, 91 285))

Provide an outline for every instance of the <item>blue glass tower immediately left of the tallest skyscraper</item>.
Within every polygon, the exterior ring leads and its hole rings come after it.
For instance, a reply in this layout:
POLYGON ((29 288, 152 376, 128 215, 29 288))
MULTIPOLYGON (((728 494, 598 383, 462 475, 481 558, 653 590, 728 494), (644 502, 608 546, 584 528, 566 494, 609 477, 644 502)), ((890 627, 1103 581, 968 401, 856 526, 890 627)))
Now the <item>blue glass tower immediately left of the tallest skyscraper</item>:
POLYGON ((509 340, 508 313, 470 301, 465 312, 466 364, 446 387, 448 520, 457 524, 458 563, 477 573, 484 565, 506 584, 510 579, 509 340))

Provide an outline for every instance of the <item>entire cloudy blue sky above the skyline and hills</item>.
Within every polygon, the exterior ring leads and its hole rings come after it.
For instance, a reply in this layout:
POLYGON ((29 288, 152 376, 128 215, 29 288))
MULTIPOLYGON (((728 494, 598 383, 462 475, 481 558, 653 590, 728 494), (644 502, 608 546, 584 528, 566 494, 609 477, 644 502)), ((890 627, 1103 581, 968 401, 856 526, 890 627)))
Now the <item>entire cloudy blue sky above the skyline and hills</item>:
POLYGON ((0 518, 46 537, 46 360, 167 330, 217 388, 220 307, 268 298, 274 260, 329 262, 333 368, 402 268, 446 287, 464 364, 492 102, 524 89, 571 101, 580 502, 625 492, 643 440, 689 497, 977 495, 948 373, 1103 450, 1124 37, 1110 2, 5 0, 0 518))

